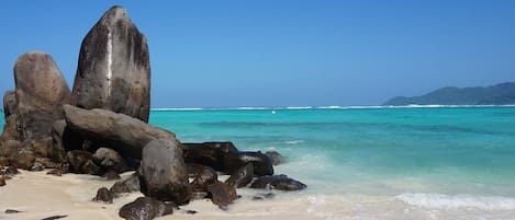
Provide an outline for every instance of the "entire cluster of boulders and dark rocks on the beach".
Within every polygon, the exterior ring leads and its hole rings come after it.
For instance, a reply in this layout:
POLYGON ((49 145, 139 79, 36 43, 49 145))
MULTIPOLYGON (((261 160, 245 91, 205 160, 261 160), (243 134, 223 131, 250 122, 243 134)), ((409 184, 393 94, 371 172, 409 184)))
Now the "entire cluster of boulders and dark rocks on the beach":
POLYGON ((16 167, 108 180, 137 170, 94 198, 112 202, 120 194, 142 192, 145 197, 121 208, 125 219, 172 213, 192 199, 211 198, 226 209, 239 187, 305 187, 273 175, 277 152, 242 152, 232 142, 181 143, 175 134, 148 125, 148 47, 121 7, 107 11, 82 40, 71 92, 53 58, 41 51, 20 56, 14 81, 15 90, 3 96, 0 186, 16 167), (231 177, 221 182, 219 173, 231 177))

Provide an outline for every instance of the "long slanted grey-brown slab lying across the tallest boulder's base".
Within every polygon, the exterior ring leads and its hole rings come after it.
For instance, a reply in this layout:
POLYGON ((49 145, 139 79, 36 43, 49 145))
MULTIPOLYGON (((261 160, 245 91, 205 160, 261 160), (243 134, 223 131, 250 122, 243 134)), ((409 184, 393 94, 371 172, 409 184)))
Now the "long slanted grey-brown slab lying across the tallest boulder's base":
POLYGON ((142 158, 142 150, 153 139, 176 140, 176 135, 124 114, 107 109, 82 109, 64 105, 68 128, 93 142, 103 143, 124 159, 142 158))

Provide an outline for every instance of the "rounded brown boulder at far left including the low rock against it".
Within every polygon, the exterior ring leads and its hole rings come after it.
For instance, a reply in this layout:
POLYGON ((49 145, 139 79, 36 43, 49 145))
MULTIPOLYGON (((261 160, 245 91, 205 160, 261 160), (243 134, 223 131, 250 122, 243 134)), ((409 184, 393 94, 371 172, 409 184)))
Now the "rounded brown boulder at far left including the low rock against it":
POLYGON ((18 140, 37 157, 52 157, 52 127, 64 117, 61 106, 71 95, 63 73, 49 55, 31 51, 18 58, 14 83, 14 92, 7 92, 3 100, 5 126, 0 147, 18 140))

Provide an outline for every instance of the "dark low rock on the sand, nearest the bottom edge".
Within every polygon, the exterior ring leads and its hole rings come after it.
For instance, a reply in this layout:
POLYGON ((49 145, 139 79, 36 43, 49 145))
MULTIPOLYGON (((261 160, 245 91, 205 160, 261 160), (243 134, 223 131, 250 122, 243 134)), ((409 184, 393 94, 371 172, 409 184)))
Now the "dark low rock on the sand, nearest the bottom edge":
POLYGON ((139 197, 125 204, 119 216, 126 220, 150 220, 173 213, 173 204, 165 204, 150 197, 139 197))

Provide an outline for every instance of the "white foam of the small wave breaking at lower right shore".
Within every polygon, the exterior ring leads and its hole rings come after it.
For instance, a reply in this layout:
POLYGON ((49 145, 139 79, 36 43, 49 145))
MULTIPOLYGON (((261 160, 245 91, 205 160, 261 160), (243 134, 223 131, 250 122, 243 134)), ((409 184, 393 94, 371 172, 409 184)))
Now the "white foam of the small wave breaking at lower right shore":
POLYGON ((395 198, 422 208, 515 210, 515 198, 512 197, 405 193, 395 198))

